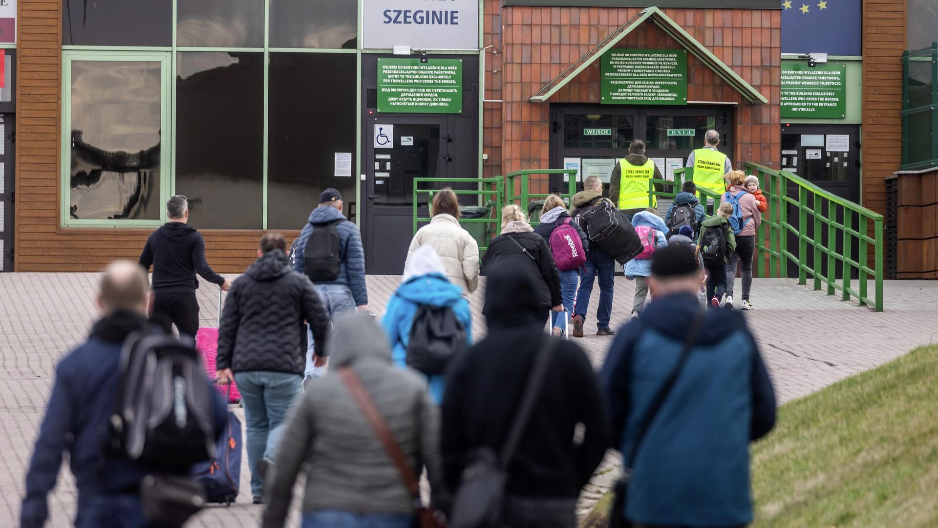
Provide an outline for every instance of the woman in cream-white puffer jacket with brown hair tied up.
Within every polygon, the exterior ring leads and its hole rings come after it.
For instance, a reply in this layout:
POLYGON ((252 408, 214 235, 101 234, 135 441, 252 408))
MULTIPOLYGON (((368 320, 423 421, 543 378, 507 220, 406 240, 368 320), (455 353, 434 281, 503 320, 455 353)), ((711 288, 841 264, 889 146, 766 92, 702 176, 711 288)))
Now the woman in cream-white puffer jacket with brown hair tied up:
POLYGON ((449 188, 433 194, 431 214, 430 225, 420 227, 411 241, 404 270, 417 248, 430 245, 443 259, 449 282, 461 287, 462 297, 471 300, 478 287, 478 242, 460 226, 460 202, 456 194, 449 188))

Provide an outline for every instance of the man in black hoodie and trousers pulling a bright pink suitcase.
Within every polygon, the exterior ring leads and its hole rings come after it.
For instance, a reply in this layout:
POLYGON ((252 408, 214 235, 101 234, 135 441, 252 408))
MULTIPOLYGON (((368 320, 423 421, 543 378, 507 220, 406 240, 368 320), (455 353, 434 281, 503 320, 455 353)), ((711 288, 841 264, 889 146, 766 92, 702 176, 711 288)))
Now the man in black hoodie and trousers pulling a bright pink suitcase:
POLYGON ((166 216, 170 221, 154 231, 144 245, 140 265, 153 266, 153 308, 150 318, 166 332, 173 325, 179 334, 195 336, 199 331, 199 303, 195 290, 199 287, 198 272, 203 278, 223 290, 232 282, 205 261, 205 241, 202 233, 189 226, 189 202, 186 196, 173 196, 166 202, 166 216))

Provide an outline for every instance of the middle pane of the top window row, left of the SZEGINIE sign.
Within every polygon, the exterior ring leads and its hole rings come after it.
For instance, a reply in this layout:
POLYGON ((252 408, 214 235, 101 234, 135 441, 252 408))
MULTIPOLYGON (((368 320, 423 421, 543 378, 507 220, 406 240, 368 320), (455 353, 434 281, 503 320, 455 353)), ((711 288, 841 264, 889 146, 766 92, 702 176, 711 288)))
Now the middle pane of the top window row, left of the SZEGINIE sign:
POLYGON ((264 0, 179 0, 176 45, 264 46, 264 0))

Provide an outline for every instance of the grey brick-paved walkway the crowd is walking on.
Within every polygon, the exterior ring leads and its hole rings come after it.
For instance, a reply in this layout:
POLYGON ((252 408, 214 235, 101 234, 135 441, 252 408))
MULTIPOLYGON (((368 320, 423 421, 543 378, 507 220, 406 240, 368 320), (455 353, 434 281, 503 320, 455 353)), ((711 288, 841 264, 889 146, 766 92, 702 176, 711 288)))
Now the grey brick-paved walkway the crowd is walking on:
MULTIPOLYGON (((49 396, 54 366, 69 347, 83 339, 95 317, 96 281, 92 273, 0 273, 0 445, 4 446, 0 449, 0 526, 13 526, 19 520, 23 474, 49 396)), ((380 310, 398 281, 398 277, 369 277, 371 306, 380 310)), ((628 317, 633 287, 617 277, 615 290, 613 327, 628 317)), ((217 323, 217 291, 207 285, 199 290, 204 326, 217 323)), ((938 338, 934 322, 938 320, 938 282, 887 282, 886 311, 881 314, 788 279, 756 279, 752 291, 757 309, 747 317, 782 402, 938 338)), ((477 329, 484 328, 482 298, 477 294, 473 303, 477 329)), ((596 301, 594 295, 591 314, 596 301)), ((586 330, 595 331, 595 319, 587 322, 586 330)), ((587 335, 577 343, 598 367, 611 340, 587 335)), ((584 494, 584 505, 612 475, 596 479, 597 487, 584 494)), ((244 491, 238 503, 230 508, 208 508, 189 525, 257 526, 260 508, 250 505, 248 480, 245 467, 244 491)), ((74 500, 74 484, 63 466, 58 487, 50 497, 52 526, 70 525, 74 500)))

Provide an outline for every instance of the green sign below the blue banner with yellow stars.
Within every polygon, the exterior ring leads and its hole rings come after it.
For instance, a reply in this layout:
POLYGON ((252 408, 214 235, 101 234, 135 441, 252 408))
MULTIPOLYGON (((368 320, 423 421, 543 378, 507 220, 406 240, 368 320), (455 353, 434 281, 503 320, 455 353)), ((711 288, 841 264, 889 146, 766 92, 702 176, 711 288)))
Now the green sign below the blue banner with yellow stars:
POLYGON ((841 119, 847 112, 847 65, 781 64, 781 117, 841 119))

